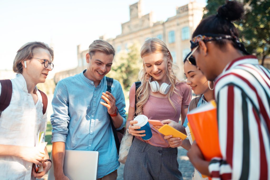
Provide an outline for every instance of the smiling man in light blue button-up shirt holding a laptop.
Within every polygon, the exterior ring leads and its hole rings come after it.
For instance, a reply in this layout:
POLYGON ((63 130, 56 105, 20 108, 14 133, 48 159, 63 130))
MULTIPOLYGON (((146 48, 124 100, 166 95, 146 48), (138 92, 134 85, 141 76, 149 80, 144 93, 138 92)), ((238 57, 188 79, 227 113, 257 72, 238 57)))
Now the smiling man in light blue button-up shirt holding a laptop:
POLYGON ((106 91, 105 75, 114 54, 107 41, 95 40, 86 54, 87 69, 60 80, 55 88, 51 116, 55 179, 68 179, 63 173, 65 149, 98 151, 97 178, 117 178, 120 163, 109 114, 119 130, 126 124, 126 111, 120 83, 114 80, 112 94, 106 91))

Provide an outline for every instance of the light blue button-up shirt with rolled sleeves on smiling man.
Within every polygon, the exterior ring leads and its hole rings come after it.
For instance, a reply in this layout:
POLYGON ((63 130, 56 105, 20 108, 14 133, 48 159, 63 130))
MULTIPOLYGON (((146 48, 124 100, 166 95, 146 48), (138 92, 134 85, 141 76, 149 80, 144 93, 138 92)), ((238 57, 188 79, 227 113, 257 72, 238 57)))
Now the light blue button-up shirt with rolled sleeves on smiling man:
MULTIPOLYGON (((97 178, 115 171, 120 163, 107 108, 100 104, 106 92, 104 77, 95 87, 83 72, 58 82, 52 100, 52 142, 65 142, 66 150, 99 152, 97 178)), ((126 124, 125 98, 122 87, 113 80, 112 94, 123 123, 126 124)), ((87 167, 86 167, 87 168, 87 167)))

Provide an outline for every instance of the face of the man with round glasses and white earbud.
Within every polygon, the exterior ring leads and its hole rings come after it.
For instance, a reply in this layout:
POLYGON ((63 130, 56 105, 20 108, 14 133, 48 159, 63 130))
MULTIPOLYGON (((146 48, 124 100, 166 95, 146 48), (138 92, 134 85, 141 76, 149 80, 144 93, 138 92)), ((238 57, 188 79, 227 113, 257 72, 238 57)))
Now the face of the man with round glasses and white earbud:
POLYGON ((51 71, 52 69, 50 65, 48 65, 48 67, 45 67, 44 60, 42 59, 46 59, 49 61, 49 63, 51 63, 52 56, 47 49, 36 48, 33 49, 33 57, 38 59, 32 58, 26 60, 26 68, 24 61, 21 62, 23 67, 22 74, 25 79, 29 79, 34 84, 44 83, 49 71, 51 71))

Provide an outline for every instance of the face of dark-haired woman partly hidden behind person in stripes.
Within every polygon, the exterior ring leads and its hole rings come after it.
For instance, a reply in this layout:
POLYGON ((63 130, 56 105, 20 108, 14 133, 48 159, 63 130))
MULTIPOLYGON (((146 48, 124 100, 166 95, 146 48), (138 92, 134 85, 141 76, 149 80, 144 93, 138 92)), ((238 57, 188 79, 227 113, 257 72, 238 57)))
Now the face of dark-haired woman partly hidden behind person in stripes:
POLYGON ((195 94, 201 95, 208 90, 208 83, 203 73, 187 61, 184 63, 185 76, 187 84, 191 87, 195 94))

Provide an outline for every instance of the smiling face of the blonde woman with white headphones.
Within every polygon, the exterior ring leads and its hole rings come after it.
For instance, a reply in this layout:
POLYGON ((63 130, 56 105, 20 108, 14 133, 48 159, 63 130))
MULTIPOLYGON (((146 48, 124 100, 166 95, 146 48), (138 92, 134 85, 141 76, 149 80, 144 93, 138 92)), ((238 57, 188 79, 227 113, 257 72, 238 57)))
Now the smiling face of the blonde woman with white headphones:
POLYGON ((163 53, 151 53, 143 56, 146 72, 153 77, 152 81, 165 82, 167 79, 168 59, 163 53))

